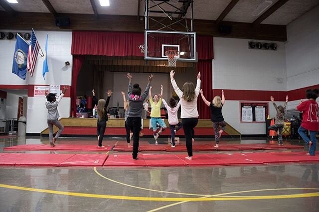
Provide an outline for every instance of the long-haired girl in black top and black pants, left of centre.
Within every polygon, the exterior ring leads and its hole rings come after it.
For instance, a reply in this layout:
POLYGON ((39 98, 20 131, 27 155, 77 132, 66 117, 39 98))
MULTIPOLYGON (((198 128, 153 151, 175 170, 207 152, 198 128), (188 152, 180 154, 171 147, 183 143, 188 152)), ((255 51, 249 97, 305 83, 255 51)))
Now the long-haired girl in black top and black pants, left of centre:
POLYGON ((104 147, 102 146, 103 136, 106 129, 106 122, 108 121, 108 113, 107 113, 107 107, 109 106, 110 97, 112 95, 112 91, 108 91, 108 99, 105 101, 103 99, 100 99, 98 102, 98 122, 97 122, 97 135, 98 135, 98 147, 104 147))

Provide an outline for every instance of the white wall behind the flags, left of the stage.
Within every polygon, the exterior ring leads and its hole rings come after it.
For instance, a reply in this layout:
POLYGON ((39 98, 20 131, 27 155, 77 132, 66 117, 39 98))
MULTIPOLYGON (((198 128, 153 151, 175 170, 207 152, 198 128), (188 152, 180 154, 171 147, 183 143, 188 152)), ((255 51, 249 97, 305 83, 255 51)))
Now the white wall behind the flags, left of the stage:
MULTIPOLYGON (((2 30, 12 31, 12 30, 2 30)), ((19 32, 30 32, 25 30, 14 30, 19 32)), ((15 40, 1 40, 0 49, 0 85, 71 85, 72 77, 72 55, 71 42, 72 32, 65 31, 35 31, 38 42, 44 51, 46 34, 48 36, 48 68, 45 80, 42 76, 44 57, 38 56, 34 75, 31 78, 27 73, 26 80, 21 80, 12 74, 12 61, 15 48, 15 40), (65 67, 64 62, 69 61, 70 66, 65 67)), ((44 106, 45 98, 28 97, 27 100, 27 133, 39 133, 46 126, 47 110, 44 106)), ((8 105, 8 103, 7 103, 8 105)), ((16 109, 17 110, 17 109, 16 109)), ((68 117, 70 114, 70 98, 65 98, 59 106, 61 117, 68 117)), ((16 115, 15 115, 16 116, 16 115)))

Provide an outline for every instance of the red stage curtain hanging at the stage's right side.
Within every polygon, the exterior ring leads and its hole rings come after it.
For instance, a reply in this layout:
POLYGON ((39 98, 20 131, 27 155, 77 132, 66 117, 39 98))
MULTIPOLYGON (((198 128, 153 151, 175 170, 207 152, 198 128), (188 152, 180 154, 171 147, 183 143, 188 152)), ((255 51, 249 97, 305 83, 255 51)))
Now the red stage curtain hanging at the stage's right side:
MULTIPOLYGON (((198 60, 197 71, 201 75, 201 89, 207 101, 212 101, 213 90, 212 90, 212 61, 211 60, 198 60)), ((200 96, 200 95, 199 95, 200 96)), ((199 118, 210 119, 210 109, 201 97, 198 97, 197 109, 199 118)))

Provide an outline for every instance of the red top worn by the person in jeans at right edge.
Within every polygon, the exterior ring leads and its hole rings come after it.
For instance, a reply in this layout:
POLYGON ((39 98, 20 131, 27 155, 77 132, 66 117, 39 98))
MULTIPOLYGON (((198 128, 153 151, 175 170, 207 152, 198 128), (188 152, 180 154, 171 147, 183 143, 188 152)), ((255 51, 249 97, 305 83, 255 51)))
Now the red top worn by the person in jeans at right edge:
POLYGON ((301 126, 311 131, 319 131, 318 103, 308 100, 297 106, 297 109, 303 112, 301 126))

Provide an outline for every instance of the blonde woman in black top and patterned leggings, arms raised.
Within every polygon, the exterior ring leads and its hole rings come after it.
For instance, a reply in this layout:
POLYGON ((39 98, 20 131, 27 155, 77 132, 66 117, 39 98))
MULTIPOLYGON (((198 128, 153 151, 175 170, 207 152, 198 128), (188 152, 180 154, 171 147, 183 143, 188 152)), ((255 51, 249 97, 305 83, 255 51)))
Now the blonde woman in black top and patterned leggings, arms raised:
POLYGON ((201 98, 203 99, 204 103, 210 107, 211 121, 213 122, 213 128, 215 131, 216 145, 214 147, 218 148, 219 147, 219 138, 221 136, 221 133, 223 133, 223 131, 226 128, 226 123, 224 121, 223 114, 221 113, 221 108, 225 105, 224 91, 221 90, 222 99, 220 99, 219 96, 216 96, 216 97, 214 97, 212 103, 208 102, 205 99, 202 90, 200 90, 200 95, 201 95, 201 98), (221 127, 220 130, 219 130, 219 126, 221 127))

